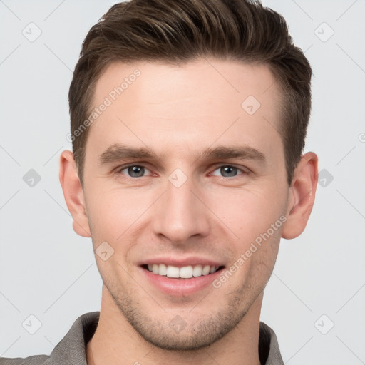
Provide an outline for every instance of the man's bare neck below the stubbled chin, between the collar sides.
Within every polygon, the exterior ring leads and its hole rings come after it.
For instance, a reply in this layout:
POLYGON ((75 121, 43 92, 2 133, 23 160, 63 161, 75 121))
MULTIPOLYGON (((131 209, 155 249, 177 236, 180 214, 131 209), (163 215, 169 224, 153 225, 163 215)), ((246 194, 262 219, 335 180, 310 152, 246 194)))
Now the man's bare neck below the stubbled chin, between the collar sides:
POLYGON ((259 365, 259 314, 262 296, 237 326, 215 343, 194 351, 168 351, 148 341, 125 319, 103 285, 98 327, 86 346, 88 365, 240 364, 259 365))

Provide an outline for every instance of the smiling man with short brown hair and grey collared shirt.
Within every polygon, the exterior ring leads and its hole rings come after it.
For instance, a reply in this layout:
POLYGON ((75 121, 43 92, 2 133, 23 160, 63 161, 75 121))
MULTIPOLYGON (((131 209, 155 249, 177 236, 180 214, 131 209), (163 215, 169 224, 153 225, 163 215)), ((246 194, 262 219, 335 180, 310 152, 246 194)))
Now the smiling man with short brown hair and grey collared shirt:
POLYGON ((259 321, 317 186, 311 68, 258 2, 132 0, 83 43, 60 181, 101 310, 1 364, 283 364, 259 321))

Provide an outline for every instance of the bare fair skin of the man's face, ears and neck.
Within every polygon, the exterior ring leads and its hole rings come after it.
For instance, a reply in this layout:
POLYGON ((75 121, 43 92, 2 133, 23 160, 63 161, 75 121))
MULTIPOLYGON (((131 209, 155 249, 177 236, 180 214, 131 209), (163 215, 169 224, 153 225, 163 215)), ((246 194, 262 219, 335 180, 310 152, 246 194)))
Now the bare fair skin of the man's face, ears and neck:
POLYGON ((92 237, 94 250, 105 241, 114 250, 106 261, 96 255, 103 289, 88 364, 259 364, 264 287, 280 237, 297 237, 307 225, 317 155, 302 156, 288 186, 279 89, 267 66, 112 63, 96 84, 94 106, 135 68, 141 75, 91 125, 83 188, 71 151, 60 158, 73 229, 92 237), (241 107, 250 95, 261 104, 253 115, 241 107), (148 146, 160 157, 100 164, 115 143, 148 146), (221 145, 250 146, 265 161, 197 158, 221 145), (143 165, 143 177, 121 170, 129 164, 143 165), (238 169, 227 173, 227 165, 238 169), (168 180, 176 168, 187 177, 178 188, 168 180), (228 268, 282 215, 286 222, 219 289, 168 295, 141 272, 140 262, 158 255, 205 257, 228 268), (177 315, 186 323, 179 333, 169 327, 177 315))

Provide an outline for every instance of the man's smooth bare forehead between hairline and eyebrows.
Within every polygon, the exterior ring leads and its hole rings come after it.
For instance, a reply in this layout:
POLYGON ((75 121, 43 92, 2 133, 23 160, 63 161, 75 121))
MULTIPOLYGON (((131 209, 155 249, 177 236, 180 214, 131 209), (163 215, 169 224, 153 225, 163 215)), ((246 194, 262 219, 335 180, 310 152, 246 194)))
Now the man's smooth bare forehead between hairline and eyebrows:
POLYGON ((228 140, 252 148, 282 145, 279 90, 264 65, 112 63, 96 83, 93 108, 103 104, 87 143, 97 150, 119 142, 185 153, 228 140))

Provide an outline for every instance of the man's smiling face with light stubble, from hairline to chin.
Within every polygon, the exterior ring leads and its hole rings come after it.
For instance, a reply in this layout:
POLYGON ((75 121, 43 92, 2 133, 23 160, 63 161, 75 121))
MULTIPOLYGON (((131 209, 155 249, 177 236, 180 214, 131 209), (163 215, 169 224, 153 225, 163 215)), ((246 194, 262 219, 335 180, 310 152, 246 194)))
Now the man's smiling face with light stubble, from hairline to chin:
POLYGON ((156 346, 211 344, 259 298, 277 257, 289 189, 274 76, 232 61, 113 63, 93 106, 106 97, 88 135, 84 195, 94 249, 114 250, 96 256, 110 305, 156 346), (157 157, 123 158, 117 145, 157 157), (245 153, 205 153, 216 148, 245 153), (168 277, 160 264, 169 276, 198 276, 168 277))

